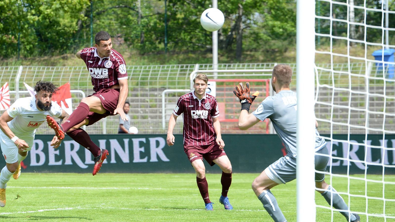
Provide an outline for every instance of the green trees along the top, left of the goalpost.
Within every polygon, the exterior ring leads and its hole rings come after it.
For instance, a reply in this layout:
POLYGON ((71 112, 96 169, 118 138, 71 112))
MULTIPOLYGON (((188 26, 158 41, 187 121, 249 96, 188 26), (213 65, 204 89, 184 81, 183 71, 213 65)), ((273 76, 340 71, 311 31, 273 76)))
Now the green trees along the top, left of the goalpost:
MULTIPOLYGON (((211 1, 168 0, 166 14, 164 0, 140 0, 140 10, 137 0, 92 2, 93 35, 106 30, 115 43, 140 54, 164 51, 165 16, 169 51, 211 50, 211 32, 200 25, 200 15, 211 7, 211 1)), ((295 2, 229 0, 218 4, 226 17, 218 32, 220 49, 236 48, 235 22, 240 7, 244 50, 277 48, 279 45, 272 43, 279 40, 286 41, 282 46, 294 44, 295 2)), ((90 0, 1 1, 0 55, 13 57, 18 50, 23 57, 75 53, 90 46, 90 14, 90 0)))

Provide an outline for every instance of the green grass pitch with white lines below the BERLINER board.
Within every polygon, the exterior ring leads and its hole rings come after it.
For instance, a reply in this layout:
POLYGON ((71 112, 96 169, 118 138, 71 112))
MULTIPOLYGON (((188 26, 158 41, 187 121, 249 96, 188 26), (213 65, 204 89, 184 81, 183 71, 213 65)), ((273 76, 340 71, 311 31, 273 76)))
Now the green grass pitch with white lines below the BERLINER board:
MULTIPOLYGON (((220 174, 206 175, 214 211, 204 211, 196 176, 190 173, 23 173, 7 187, 7 204, 0 209, 0 221, 272 221, 251 189, 259 173, 234 173, 229 190, 233 211, 218 202, 220 174)), ((363 175, 356 175, 363 177, 363 175)), ((381 175, 368 179, 382 180, 381 175)), ((326 178, 329 182, 329 177, 326 178)), ((384 181, 395 181, 386 175, 384 181)), ((339 192, 347 192, 347 178, 333 178, 339 192)), ((352 194, 365 195, 365 181, 350 180, 352 194)), ((289 222, 296 221, 296 181, 271 189, 289 222)), ((381 183, 367 182, 367 195, 383 196, 381 183)), ((395 186, 386 184, 386 199, 395 199, 395 186)), ((348 196, 342 195, 346 203, 348 196)), ((328 206, 316 192, 316 203, 328 206)), ((351 209, 365 212, 366 199, 351 197, 351 209)), ((369 200, 368 213, 383 213, 384 201, 369 200)), ((317 221, 331 221, 331 210, 317 208, 317 221)), ((306 212, 308 213, 308 212, 306 212)), ((386 201, 387 216, 395 216, 395 202, 386 201)), ((333 221, 346 221, 333 212, 333 221)), ((361 215, 361 221, 367 221, 361 215)), ((384 218, 369 216, 369 222, 384 218)), ((387 222, 395 219, 387 218, 387 222)))

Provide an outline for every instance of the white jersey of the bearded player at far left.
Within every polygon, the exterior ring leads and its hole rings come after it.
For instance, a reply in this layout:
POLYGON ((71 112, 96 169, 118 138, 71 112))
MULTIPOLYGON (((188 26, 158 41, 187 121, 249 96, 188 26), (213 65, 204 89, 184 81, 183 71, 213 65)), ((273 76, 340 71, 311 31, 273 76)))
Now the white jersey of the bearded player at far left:
POLYGON ((36 107, 36 98, 25 97, 17 99, 7 110, 10 117, 14 118, 8 122, 8 126, 15 135, 33 135, 36 129, 46 121, 45 117, 60 117, 62 108, 52 102, 51 110, 40 111, 36 107))

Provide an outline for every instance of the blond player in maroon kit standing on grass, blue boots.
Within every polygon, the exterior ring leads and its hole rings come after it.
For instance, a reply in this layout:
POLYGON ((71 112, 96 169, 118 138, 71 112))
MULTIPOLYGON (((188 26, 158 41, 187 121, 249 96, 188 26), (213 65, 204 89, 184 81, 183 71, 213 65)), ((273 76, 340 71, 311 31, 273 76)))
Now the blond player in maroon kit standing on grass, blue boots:
POLYGON ((226 156, 225 143, 221 138, 221 125, 218 119, 218 104, 214 96, 206 94, 207 81, 205 74, 199 73, 194 79, 194 92, 181 96, 169 119, 167 145, 174 145, 173 129, 177 117, 184 118, 184 152, 196 171, 196 182, 205 202, 205 209, 212 211, 213 203, 209 199, 209 186, 205 176, 203 158, 222 169, 222 195, 220 203, 226 210, 233 209, 229 203, 228 190, 232 182, 232 166, 226 156))

